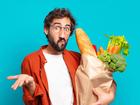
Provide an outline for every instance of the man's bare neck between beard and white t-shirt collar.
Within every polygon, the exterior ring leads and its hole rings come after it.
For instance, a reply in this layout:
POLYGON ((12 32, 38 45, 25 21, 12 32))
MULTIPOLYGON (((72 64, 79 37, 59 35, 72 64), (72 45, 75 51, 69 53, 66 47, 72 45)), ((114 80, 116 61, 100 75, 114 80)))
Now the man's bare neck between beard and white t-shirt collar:
POLYGON ((60 55, 63 52, 63 51, 61 52, 56 51, 50 44, 48 44, 47 48, 45 48, 44 51, 48 54, 53 54, 53 55, 60 55))

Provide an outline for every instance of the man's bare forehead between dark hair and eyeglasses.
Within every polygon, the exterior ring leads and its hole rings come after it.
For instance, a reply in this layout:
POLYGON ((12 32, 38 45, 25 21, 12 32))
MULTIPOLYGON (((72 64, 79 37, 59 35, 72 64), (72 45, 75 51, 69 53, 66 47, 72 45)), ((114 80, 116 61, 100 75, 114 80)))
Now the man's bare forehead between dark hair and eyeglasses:
POLYGON ((71 25, 71 21, 69 18, 64 17, 61 19, 53 19, 52 24, 60 24, 62 26, 71 25))

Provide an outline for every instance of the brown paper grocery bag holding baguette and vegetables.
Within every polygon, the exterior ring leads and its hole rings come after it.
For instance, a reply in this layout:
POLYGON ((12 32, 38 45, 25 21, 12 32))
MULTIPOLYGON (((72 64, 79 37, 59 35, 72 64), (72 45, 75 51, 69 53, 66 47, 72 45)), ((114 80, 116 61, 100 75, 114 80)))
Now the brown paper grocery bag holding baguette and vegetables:
POLYGON ((81 62, 76 72, 77 105, 92 105, 97 101, 93 88, 108 91, 113 83, 112 72, 97 57, 81 55, 81 62))

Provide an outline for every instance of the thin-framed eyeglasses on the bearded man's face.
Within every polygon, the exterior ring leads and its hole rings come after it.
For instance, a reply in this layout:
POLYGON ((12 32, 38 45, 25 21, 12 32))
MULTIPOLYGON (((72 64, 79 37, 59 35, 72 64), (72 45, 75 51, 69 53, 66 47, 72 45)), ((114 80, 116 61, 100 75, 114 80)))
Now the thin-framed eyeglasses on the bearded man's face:
POLYGON ((53 29, 54 32, 56 33, 59 33, 60 31, 65 31, 66 34, 70 34, 71 32, 71 28, 69 26, 65 26, 65 27, 62 27, 62 26, 59 26, 59 25, 50 25, 53 29))

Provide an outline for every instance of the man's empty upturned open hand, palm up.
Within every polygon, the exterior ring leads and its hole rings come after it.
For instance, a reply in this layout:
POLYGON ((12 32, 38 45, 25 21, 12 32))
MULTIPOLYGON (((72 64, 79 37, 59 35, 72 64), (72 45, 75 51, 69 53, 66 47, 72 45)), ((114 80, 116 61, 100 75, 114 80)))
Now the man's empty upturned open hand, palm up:
POLYGON ((15 83, 11 86, 11 88, 13 88, 14 90, 25 85, 30 91, 31 95, 34 94, 36 85, 32 76, 29 76, 27 74, 20 74, 15 76, 8 76, 7 79, 16 80, 15 83))

